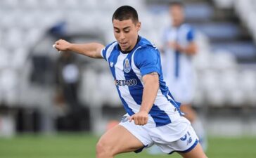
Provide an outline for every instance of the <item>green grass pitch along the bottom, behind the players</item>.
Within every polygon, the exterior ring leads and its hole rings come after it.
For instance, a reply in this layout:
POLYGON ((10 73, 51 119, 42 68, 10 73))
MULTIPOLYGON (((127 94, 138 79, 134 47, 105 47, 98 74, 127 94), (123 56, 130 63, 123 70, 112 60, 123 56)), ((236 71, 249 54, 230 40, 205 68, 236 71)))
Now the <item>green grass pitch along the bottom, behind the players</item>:
MULTIPOLYGON (((0 158, 93 158, 96 136, 73 133, 57 136, 25 135, 0 138, 0 158)), ((209 138, 209 158, 255 158, 256 137, 209 138)), ((117 158, 180 157, 179 154, 128 153, 117 158)))

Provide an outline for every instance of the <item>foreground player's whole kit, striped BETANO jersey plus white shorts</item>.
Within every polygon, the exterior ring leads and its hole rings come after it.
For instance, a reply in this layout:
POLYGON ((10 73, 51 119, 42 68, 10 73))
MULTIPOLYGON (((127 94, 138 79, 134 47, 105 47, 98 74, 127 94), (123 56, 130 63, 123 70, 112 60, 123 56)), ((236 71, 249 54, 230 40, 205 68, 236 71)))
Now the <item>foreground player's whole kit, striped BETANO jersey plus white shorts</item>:
POLYGON ((148 40, 138 37, 136 46, 129 53, 122 52, 115 41, 103 48, 101 55, 110 66, 115 86, 127 112, 120 125, 141 140, 145 147, 155 143, 166 153, 191 150, 198 138, 190 122, 181 117, 179 104, 174 101, 163 81, 158 49, 148 40), (127 117, 139 112, 143 95, 142 77, 151 72, 158 73, 160 88, 148 114, 148 124, 135 125, 127 117))

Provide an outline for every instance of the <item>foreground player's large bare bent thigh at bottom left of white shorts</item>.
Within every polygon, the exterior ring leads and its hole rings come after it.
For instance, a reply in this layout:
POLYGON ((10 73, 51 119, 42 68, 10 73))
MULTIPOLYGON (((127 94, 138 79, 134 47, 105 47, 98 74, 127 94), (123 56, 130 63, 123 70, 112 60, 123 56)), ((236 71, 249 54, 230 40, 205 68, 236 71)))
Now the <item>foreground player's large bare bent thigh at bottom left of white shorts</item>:
POLYGON ((143 143, 123 126, 117 125, 101 136, 96 145, 97 158, 113 158, 116 154, 133 152, 143 143))

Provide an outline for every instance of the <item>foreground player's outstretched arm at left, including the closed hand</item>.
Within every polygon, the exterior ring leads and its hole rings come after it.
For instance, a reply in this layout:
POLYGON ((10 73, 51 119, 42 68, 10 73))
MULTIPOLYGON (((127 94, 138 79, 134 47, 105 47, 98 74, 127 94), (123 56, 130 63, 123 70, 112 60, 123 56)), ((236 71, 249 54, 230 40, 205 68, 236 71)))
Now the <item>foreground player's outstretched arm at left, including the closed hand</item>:
POLYGON ((74 51, 76 53, 89 56, 91 58, 103 58, 101 50, 105 47, 98 43, 89 44, 72 44, 68 41, 60 39, 53 45, 58 51, 74 51))

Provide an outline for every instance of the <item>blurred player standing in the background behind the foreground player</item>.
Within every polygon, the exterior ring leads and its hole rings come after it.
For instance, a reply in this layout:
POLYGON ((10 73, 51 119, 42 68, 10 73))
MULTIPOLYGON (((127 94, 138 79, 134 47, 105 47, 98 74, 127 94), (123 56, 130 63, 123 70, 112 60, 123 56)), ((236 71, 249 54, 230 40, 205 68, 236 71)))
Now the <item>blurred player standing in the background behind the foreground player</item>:
POLYGON ((169 4, 172 26, 164 32, 164 54, 162 69, 169 90, 175 100, 181 103, 181 111, 195 129, 204 150, 207 147, 203 124, 191 107, 193 100, 193 65, 192 58, 196 55, 197 46, 195 32, 190 25, 184 23, 184 6, 181 2, 169 4))

